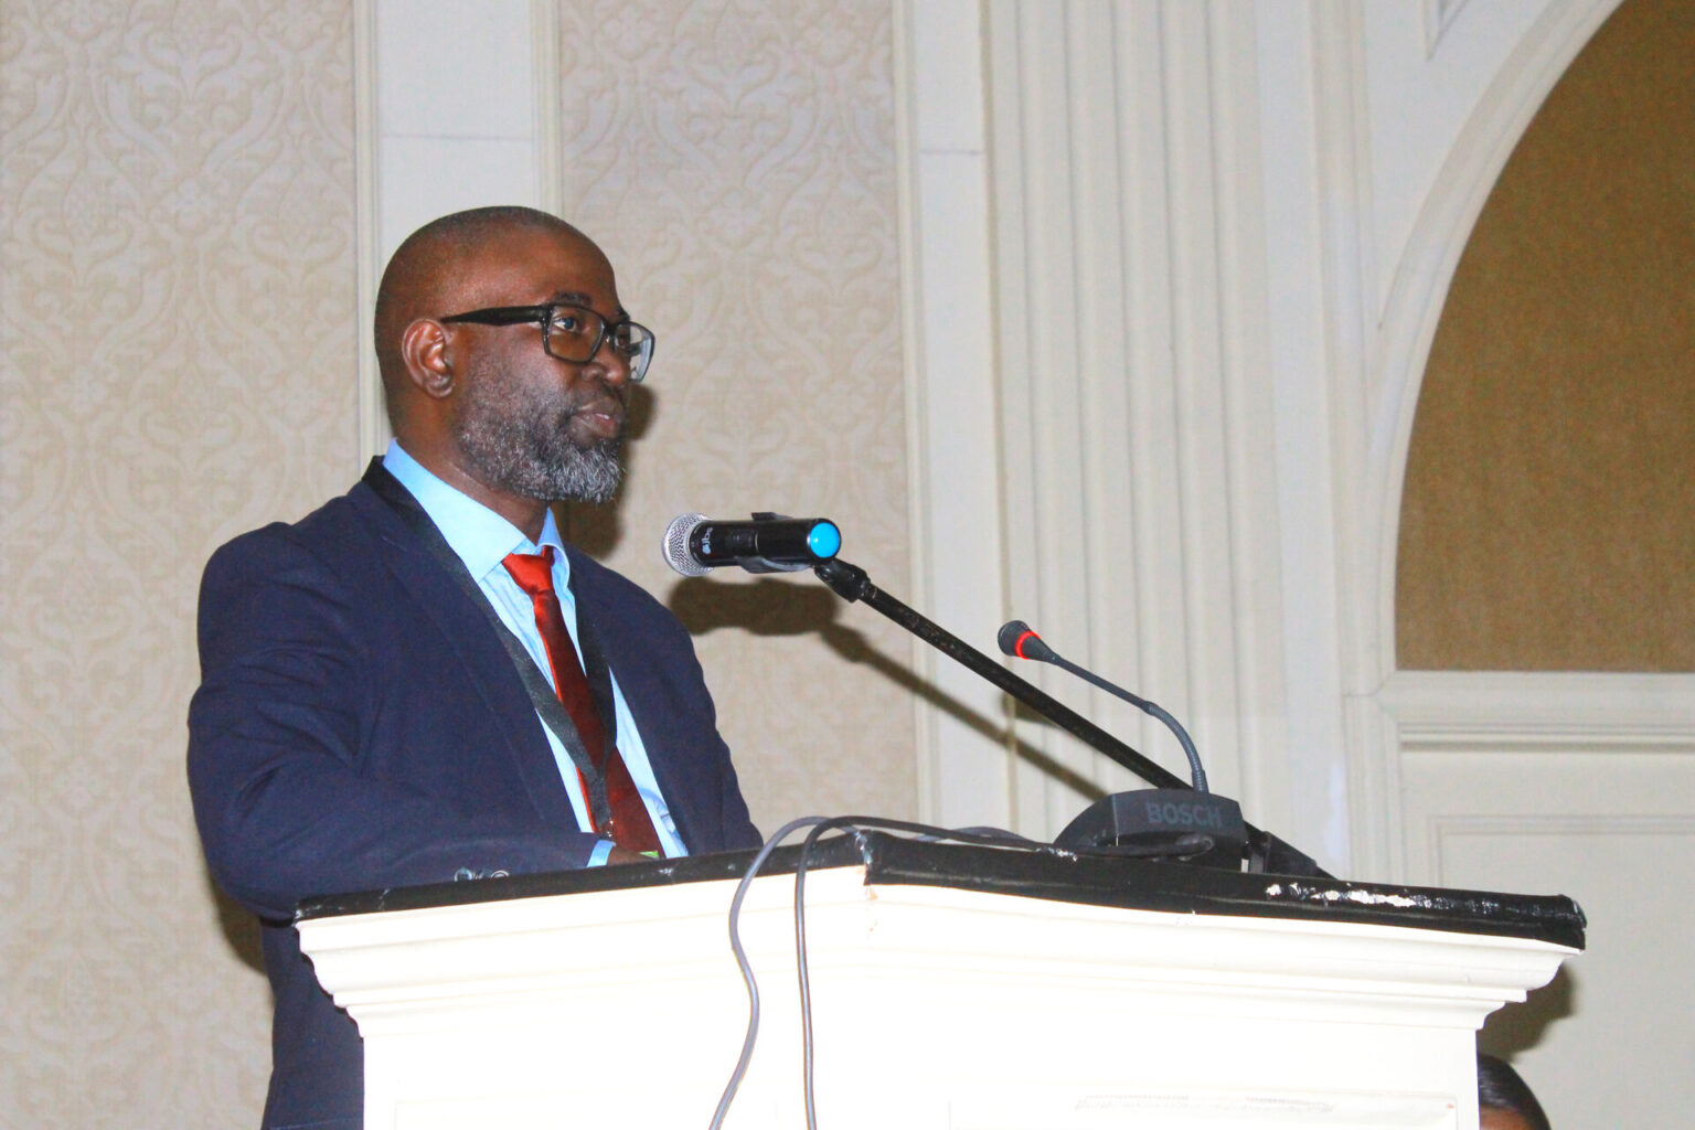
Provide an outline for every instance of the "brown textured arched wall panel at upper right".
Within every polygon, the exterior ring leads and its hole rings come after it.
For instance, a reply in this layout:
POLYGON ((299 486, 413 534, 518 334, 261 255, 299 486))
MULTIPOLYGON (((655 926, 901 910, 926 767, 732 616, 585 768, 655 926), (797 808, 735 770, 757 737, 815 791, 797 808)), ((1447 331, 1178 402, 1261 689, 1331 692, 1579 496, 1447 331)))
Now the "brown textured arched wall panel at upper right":
POLYGON ((1695 22, 1626 0, 1459 258, 1412 422, 1395 666, 1695 671, 1695 22))

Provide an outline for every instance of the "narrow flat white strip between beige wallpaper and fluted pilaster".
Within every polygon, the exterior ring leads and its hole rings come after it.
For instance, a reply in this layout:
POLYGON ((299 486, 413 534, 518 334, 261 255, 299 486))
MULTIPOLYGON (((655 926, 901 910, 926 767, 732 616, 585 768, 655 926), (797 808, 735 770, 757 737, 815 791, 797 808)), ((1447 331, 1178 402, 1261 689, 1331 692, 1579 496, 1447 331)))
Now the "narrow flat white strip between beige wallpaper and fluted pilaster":
MULTIPOLYGON (((909 603, 973 640, 1005 608, 981 22, 971 0, 893 7, 909 603)), ((912 657, 936 690, 914 700, 920 817, 1005 823, 1000 691, 924 644, 912 657)))

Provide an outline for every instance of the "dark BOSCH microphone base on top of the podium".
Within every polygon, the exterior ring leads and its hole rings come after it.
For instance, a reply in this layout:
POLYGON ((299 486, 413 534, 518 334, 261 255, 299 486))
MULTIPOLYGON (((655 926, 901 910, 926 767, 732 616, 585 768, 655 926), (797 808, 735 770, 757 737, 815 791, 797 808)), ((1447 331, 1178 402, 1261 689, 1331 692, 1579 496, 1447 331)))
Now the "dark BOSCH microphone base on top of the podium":
POLYGON ((1085 808, 1056 847, 1241 871, 1248 849, 1242 806, 1193 789, 1114 793, 1085 808))

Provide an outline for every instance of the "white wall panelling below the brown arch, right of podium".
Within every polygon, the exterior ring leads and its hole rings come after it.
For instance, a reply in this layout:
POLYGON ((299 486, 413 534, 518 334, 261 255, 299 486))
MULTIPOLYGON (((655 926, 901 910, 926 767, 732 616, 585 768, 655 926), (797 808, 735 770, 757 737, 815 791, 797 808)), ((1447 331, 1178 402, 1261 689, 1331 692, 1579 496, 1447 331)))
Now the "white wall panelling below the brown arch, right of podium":
POLYGON ((1695 676, 1400 673, 1405 878, 1561 893, 1588 950, 1527 1010, 1492 1018, 1561 1125, 1603 1125, 1614 1079, 1678 1125, 1690 1054, 1685 940, 1695 928, 1695 676), (1642 1049, 1612 1033, 1664 1032, 1642 1049))

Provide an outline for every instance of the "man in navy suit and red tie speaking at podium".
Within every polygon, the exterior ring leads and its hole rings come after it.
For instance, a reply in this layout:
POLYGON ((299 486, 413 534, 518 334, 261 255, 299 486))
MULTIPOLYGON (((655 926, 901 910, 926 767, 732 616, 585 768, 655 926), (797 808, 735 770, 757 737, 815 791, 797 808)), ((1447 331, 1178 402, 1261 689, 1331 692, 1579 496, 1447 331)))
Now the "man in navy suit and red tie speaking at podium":
POLYGON ((376 352, 388 452, 222 547, 200 591, 188 779, 263 923, 266 1127, 363 1115, 298 900, 759 842, 688 634, 547 505, 612 496, 653 356, 600 249, 529 208, 436 220, 383 274, 376 352))

